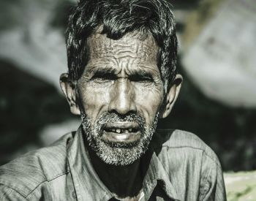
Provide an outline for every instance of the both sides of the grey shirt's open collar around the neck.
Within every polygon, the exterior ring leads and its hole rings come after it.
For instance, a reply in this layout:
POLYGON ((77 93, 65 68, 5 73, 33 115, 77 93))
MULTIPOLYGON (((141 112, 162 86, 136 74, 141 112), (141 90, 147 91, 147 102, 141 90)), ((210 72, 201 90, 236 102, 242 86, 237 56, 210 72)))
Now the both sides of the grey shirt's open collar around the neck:
MULTIPOLYGON (((89 159, 89 153, 86 151, 83 142, 83 132, 81 127, 75 133, 73 141, 68 147, 68 161, 70 172, 74 181, 76 195, 78 200, 84 200, 84 197, 94 197, 95 200, 110 200, 113 194, 100 181, 97 173, 94 171, 89 159)), ((153 148, 149 147, 146 154, 141 159, 142 167, 145 169, 145 178, 143 181, 143 191, 145 200, 151 196, 154 188, 157 186, 157 181, 162 181, 162 189, 168 197, 173 200, 181 200, 177 196, 173 184, 170 182, 170 176, 165 171, 165 168, 160 162, 153 148), (146 163, 148 163, 146 165, 146 163), (146 168, 148 169, 146 170, 146 168)))

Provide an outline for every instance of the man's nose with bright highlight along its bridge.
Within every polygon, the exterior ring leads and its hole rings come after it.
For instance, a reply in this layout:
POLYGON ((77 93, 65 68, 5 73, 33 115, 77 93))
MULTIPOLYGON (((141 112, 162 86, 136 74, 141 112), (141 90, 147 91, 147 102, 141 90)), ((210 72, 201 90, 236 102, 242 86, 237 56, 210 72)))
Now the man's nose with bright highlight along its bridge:
POLYGON ((108 112, 125 115, 136 110, 135 91, 132 84, 126 78, 119 78, 114 83, 110 94, 108 112))

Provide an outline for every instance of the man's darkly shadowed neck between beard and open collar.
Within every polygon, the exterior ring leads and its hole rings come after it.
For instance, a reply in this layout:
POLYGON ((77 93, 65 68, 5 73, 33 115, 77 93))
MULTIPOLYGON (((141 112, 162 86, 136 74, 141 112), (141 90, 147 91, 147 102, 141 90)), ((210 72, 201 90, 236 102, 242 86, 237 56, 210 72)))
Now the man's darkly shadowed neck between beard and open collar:
POLYGON ((143 183, 140 160, 127 166, 106 164, 90 148, 89 156, 100 180, 116 198, 138 200, 143 183))

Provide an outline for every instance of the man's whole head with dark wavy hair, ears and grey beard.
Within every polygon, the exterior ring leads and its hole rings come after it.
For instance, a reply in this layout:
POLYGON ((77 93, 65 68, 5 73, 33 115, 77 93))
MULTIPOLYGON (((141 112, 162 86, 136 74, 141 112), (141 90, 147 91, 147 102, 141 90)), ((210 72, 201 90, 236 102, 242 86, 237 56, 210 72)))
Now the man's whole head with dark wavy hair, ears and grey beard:
POLYGON ((89 145, 108 164, 135 162, 180 88, 170 5, 80 1, 69 18, 67 54, 61 88, 89 145))

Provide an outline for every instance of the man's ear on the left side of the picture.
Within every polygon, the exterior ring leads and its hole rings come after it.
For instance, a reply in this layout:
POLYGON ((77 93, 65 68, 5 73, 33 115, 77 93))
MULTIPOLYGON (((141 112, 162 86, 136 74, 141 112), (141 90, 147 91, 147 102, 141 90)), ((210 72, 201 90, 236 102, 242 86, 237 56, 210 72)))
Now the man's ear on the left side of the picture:
POLYGON ((70 111, 74 115, 80 115, 80 109, 77 102, 77 97, 75 95, 75 86, 69 81, 69 76, 67 73, 61 74, 59 83, 61 85, 61 90, 66 96, 67 102, 69 103, 70 111))

